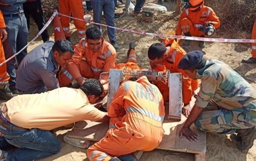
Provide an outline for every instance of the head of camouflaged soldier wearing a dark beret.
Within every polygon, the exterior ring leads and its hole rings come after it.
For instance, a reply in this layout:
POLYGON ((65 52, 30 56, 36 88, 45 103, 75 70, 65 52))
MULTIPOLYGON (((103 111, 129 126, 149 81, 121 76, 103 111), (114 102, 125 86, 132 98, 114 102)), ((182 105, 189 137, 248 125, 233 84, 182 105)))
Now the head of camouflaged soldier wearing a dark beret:
POLYGON ((200 50, 194 50, 188 52, 179 61, 178 68, 184 70, 184 72, 192 79, 196 79, 198 70, 204 68, 206 64, 206 58, 204 58, 204 53, 200 50))

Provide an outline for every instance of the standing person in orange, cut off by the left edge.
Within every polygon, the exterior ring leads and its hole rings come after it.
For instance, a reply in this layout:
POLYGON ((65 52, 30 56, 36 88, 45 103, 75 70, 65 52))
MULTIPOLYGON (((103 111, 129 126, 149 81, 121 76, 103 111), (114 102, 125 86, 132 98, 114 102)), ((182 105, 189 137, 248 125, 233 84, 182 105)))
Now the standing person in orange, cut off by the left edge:
MULTIPOLYGON (((7 38, 7 32, 5 30, 5 20, 3 19, 3 13, 0 10, 0 64, 5 61, 5 52, 3 51, 3 44, 7 38)), ((8 100, 13 97, 13 94, 7 86, 10 76, 7 73, 7 64, 0 66, 0 99, 8 100)))

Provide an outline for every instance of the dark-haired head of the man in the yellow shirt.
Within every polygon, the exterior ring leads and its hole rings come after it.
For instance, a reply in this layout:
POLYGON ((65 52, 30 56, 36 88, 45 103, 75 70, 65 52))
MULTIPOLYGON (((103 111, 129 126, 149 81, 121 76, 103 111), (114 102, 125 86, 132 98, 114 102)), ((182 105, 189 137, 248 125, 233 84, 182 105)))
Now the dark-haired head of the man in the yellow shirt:
POLYGON ((87 95, 89 103, 95 103, 103 93, 103 86, 94 78, 86 79, 80 89, 87 95))

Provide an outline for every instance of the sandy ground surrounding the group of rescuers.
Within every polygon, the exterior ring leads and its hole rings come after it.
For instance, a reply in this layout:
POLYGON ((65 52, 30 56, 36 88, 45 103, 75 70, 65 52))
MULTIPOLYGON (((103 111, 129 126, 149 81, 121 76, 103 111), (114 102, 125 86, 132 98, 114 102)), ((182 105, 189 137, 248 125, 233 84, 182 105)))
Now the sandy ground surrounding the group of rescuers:
MULTIPOLYGON (((173 3, 173 1, 171 1, 173 3)), ((132 15, 124 15, 120 19, 116 20, 116 26, 119 28, 127 28, 130 30, 140 30, 144 32, 151 33, 167 33, 175 30, 175 25, 177 24, 177 16, 173 14, 172 11, 175 11, 175 4, 164 3, 167 6, 168 12, 163 14, 157 14, 155 16, 155 21, 153 23, 148 23, 141 20, 141 15, 132 16, 132 15)), ((122 8, 123 5, 122 5, 122 8)), ((122 8, 119 8, 116 12, 121 13, 122 8)), ((105 23, 105 21, 102 21, 105 23)), ((34 24, 35 25, 35 24, 34 24)), ((72 25, 73 26, 73 25, 72 25)), ((72 42, 77 42, 77 36, 75 32, 75 27, 73 26, 73 37, 72 42)), ((53 40, 53 30, 52 25, 48 28, 51 39, 53 40)), ((36 35, 38 32, 37 28, 32 27, 30 32, 30 40, 36 35)), ((107 31, 103 28, 103 33, 105 39, 108 40, 107 31)), ((250 38, 251 31, 248 32, 239 32, 230 33, 228 31, 218 30, 215 34, 216 38, 250 38)), ((147 58, 147 50, 151 44, 158 42, 158 38, 153 38, 153 36, 144 36, 138 34, 132 34, 129 32, 122 32, 117 30, 118 36, 118 45, 119 49, 117 50, 117 58, 118 62, 125 62, 126 60, 126 52, 128 50, 128 44, 130 42, 136 43, 136 54, 138 58, 138 62, 140 66, 148 67, 148 58, 147 58)), ((40 38, 33 42, 28 50, 32 50, 32 48, 41 44, 40 38)), ((198 42, 192 42, 187 50, 195 50, 198 48, 198 42)), ((222 60, 226 64, 230 65, 234 70, 237 70, 239 74, 244 76, 253 87, 256 87, 255 78, 256 78, 256 64, 242 64, 241 60, 243 58, 249 58, 251 52, 250 44, 227 44, 227 43, 216 43, 216 42, 206 42, 206 48, 202 50, 206 53, 208 58, 214 58, 218 60, 222 60)), ((62 137, 67 132, 67 129, 58 129, 56 133, 58 134, 58 138, 62 140, 62 137)), ((206 160, 247 160, 254 161, 256 160, 256 142, 254 142, 253 148, 249 150, 249 152, 240 152, 235 144, 231 142, 228 135, 218 135, 214 133, 207 133, 206 135, 206 160)), ((48 160, 56 160, 56 161, 65 161, 65 160, 88 160, 85 154, 86 150, 75 148, 70 146, 69 144, 65 144, 62 142, 61 151, 48 158, 44 158, 41 161, 48 160)), ((171 152, 165 150, 153 150, 152 152, 144 152, 142 157, 140 158, 142 161, 147 160, 194 160, 194 154, 181 153, 181 152, 171 152)))

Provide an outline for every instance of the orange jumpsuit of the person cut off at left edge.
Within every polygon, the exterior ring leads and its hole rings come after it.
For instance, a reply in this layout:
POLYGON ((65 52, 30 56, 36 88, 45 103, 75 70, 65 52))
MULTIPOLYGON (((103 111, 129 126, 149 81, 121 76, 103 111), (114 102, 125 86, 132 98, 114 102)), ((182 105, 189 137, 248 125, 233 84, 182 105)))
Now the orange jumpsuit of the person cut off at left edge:
MULTIPOLYGON (((0 10, 0 28, 5 28, 5 20, 3 19, 3 13, 0 10)), ((2 40, 0 39, 0 63, 5 61, 5 52, 3 51, 2 40)), ((8 83, 10 78, 9 74, 7 74, 7 65, 6 63, 0 66, 0 85, 8 83)))

